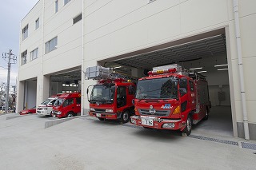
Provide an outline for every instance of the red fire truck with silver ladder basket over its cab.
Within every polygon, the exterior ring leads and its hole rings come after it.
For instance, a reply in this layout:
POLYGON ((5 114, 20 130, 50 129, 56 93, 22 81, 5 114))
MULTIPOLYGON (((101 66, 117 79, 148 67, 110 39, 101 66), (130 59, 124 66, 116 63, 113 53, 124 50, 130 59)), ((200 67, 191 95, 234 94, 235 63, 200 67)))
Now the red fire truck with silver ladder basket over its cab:
POLYGON ((90 87, 90 117, 98 117, 100 121, 105 119, 119 120, 122 123, 130 121, 134 115, 134 93, 136 85, 126 81, 120 73, 114 73, 111 68, 93 66, 86 69, 86 77, 97 81, 97 85, 90 85, 87 89, 87 97, 90 87))

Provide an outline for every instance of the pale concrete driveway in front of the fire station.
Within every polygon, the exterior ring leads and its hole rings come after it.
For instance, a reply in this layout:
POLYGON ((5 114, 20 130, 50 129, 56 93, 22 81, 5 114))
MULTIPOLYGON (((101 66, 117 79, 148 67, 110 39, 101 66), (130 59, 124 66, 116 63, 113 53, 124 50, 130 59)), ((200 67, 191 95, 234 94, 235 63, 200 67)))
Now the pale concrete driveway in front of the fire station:
MULTIPOLYGON (((1 169, 255 169, 255 150, 80 117, 0 117, 1 169)), ((197 136, 198 134, 192 134, 197 136)), ((240 140, 228 137, 225 140, 240 140)))

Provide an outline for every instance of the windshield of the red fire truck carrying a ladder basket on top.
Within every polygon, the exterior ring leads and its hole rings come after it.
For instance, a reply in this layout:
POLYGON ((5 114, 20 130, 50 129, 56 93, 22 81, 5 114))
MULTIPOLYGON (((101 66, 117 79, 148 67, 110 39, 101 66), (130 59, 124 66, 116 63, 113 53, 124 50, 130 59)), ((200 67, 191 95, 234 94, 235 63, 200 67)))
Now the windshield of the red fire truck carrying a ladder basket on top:
POLYGON ((90 95, 90 101, 113 102, 114 101, 114 84, 94 85, 90 95))

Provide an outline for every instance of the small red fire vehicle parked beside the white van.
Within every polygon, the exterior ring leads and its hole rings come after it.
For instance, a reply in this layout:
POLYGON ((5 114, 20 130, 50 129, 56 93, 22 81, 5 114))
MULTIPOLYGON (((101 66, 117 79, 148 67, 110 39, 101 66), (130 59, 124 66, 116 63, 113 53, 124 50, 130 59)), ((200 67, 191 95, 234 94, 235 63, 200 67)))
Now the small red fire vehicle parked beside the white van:
POLYGON ((53 117, 74 117, 81 113, 81 93, 63 93, 53 107, 53 117))

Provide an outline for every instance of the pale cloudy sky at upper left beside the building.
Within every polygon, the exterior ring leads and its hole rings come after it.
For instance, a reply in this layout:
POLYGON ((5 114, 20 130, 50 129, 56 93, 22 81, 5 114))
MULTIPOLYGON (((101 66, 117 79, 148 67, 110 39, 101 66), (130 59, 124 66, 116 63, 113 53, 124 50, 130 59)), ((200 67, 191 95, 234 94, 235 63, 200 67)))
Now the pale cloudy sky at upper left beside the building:
MULTIPOLYGON (((30 12, 38 0, 0 0, 0 85, 7 82, 7 62, 2 59, 2 53, 12 49, 18 60, 19 53, 19 33, 22 19, 30 12)), ((18 76, 18 64, 11 65, 10 85, 16 84, 18 76)))

